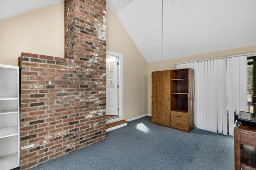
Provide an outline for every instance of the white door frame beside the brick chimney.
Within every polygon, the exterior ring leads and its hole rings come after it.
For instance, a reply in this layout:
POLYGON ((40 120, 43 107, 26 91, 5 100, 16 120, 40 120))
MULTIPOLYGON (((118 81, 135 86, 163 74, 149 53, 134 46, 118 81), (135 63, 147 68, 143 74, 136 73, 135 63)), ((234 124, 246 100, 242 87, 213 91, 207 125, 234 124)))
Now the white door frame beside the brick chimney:
POLYGON ((120 53, 106 51, 106 55, 112 55, 118 58, 118 105, 119 105, 119 116, 113 117, 113 119, 106 120, 106 124, 113 123, 124 119, 124 97, 123 97, 123 55, 120 53))

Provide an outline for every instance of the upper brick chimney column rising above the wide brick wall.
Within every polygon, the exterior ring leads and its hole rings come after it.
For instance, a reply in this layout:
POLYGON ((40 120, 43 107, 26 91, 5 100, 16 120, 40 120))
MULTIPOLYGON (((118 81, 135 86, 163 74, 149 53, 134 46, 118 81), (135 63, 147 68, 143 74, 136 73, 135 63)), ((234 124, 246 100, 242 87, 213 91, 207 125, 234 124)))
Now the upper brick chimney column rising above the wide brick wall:
POLYGON ((106 1, 65 1, 65 57, 89 61, 106 56, 106 1))

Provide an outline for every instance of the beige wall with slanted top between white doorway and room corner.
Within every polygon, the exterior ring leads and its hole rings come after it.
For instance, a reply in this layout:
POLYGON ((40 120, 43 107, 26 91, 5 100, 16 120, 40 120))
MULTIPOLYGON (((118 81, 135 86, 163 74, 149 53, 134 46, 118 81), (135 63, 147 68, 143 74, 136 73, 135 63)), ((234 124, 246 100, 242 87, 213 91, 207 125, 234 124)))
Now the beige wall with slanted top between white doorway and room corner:
POLYGON ((106 49, 123 55, 124 119, 147 113, 147 63, 112 11, 106 11, 106 49))

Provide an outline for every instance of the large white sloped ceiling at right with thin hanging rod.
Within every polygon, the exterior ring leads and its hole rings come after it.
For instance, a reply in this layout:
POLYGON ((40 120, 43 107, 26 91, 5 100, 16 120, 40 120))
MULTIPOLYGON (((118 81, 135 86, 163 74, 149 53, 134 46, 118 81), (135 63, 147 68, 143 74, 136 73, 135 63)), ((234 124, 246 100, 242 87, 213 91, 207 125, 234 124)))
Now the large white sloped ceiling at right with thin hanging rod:
POLYGON ((256 45, 255 0, 164 0, 164 56, 162 0, 133 0, 116 11, 148 63, 256 45))

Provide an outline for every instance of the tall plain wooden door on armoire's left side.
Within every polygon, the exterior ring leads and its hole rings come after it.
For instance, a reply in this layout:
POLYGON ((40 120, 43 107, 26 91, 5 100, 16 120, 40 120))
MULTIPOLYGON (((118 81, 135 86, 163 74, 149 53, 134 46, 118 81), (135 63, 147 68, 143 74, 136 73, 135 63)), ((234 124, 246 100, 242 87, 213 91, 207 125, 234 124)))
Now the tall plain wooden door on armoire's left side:
POLYGON ((152 122, 170 127, 170 70, 152 72, 152 122))

